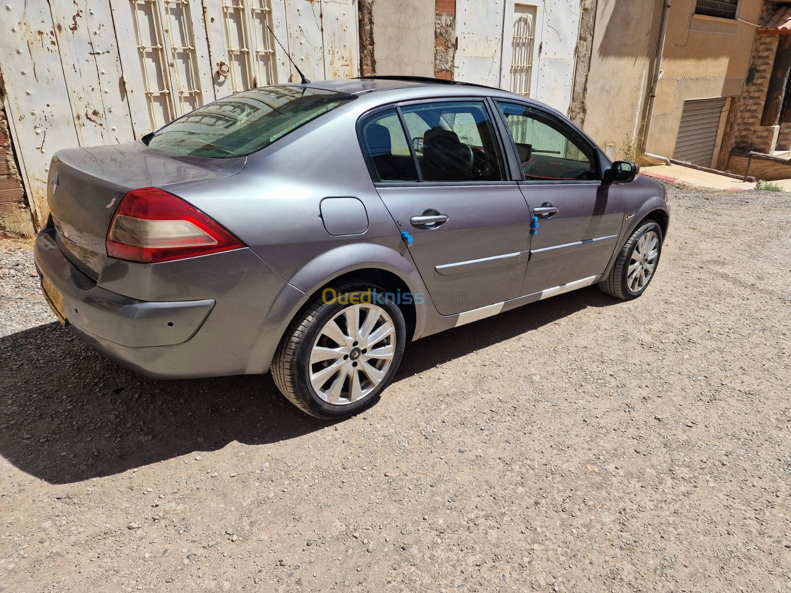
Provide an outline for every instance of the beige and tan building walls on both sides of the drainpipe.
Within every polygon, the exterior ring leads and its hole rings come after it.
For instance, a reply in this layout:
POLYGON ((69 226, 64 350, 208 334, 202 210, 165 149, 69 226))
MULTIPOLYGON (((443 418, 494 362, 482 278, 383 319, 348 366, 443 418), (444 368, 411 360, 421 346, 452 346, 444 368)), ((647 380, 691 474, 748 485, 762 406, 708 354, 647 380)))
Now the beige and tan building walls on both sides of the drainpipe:
POLYGON ((599 0, 585 130, 616 157, 634 147, 672 157, 684 101, 739 96, 750 63, 761 0, 741 0, 737 17, 694 14, 694 2, 673 2, 650 137, 643 138, 663 2, 599 0), (747 21, 747 22, 743 22, 747 21))

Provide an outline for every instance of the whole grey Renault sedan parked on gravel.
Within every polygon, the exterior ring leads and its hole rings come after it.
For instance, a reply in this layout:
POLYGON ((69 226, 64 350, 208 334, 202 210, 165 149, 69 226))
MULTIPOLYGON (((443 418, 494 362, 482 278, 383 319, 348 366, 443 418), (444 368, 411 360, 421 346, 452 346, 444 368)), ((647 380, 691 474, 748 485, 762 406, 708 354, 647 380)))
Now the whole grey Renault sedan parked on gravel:
POLYGON ((331 419, 376 402, 412 340, 593 284, 640 296, 669 212, 638 173, 498 89, 270 86, 57 153, 36 265, 61 322, 119 364, 271 370, 331 419))

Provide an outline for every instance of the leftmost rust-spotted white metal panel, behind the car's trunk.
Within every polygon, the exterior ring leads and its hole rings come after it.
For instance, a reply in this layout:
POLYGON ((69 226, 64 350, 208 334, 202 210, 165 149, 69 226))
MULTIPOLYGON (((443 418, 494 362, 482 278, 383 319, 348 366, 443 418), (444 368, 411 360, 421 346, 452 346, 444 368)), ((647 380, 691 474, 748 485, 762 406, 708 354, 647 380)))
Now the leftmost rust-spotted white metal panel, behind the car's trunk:
POLYGON ((79 145, 46 2, 3 2, 0 74, 13 143, 33 208, 41 224, 47 216, 47 173, 56 150, 79 145))

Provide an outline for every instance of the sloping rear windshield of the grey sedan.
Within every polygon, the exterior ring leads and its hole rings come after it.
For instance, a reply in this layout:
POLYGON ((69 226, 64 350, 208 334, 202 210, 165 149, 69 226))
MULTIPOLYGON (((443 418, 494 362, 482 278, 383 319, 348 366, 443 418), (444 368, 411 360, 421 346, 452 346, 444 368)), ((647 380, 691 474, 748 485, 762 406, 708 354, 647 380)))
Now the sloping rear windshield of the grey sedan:
POLYGON ((244 157, 355 98, 305 87, 252 89, 196 109, 144 142, 193 157, 244 157))

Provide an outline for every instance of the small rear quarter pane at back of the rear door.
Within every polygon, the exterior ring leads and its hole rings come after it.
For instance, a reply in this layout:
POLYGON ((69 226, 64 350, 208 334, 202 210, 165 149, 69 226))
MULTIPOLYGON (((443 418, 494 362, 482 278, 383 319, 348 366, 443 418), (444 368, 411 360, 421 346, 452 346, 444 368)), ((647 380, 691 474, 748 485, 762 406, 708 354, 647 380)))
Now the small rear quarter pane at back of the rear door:
POLYGON ((362 124, 362 152, 374 181, 417 181, 414 158, 395 109, 381 111, 362 124))

